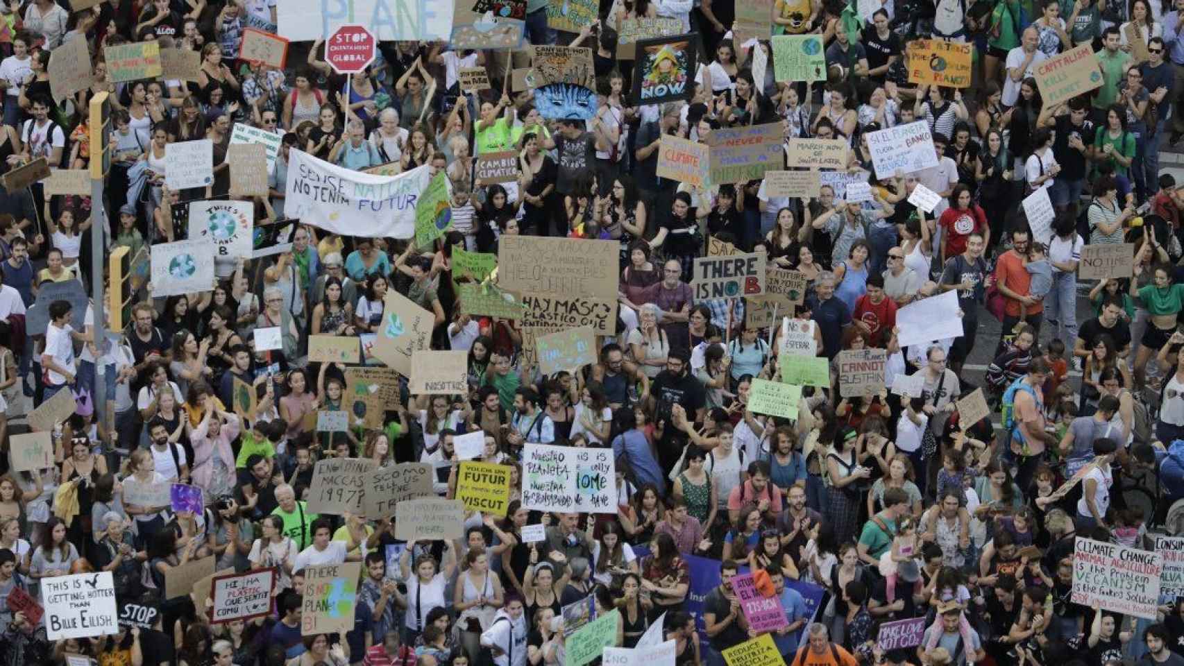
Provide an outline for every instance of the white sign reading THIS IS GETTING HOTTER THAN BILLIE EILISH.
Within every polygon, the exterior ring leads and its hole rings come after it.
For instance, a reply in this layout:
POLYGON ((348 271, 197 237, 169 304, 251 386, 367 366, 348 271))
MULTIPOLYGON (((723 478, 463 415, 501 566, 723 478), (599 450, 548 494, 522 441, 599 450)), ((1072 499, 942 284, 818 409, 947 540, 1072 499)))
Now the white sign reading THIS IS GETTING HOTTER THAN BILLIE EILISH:
POLYGON ((110 571, 41 578, 45 638, 51 641, 120 633, 110 571))

